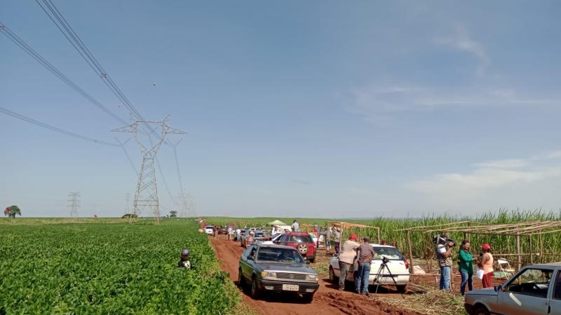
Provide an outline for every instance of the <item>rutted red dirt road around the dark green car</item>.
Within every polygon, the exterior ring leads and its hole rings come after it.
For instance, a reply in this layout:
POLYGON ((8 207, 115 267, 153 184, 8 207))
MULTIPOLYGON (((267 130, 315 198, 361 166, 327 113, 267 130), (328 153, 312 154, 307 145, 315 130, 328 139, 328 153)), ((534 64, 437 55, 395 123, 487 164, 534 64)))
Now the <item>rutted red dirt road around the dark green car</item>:
MULTIPOLYGON (((243 248, 236 241, 222 237, 210 237, 216 256, 224 271, 230 273, 230 280, 237 282, 238 261, 243 248)), ((383 296, 400 298, 399 294, 382 293, 383 296)), ((313 296, 313 301, 306 304, 298 297, 270 295, 261 300, 253 300, 245 291, 241 292, 243 301, 259 314, 385 314, 418 315, 415 311, 397 309, 377 300, 370 300, 356 293, 339 291, 332 288, 328 279, 320 279, 320 288, 313 296)))

